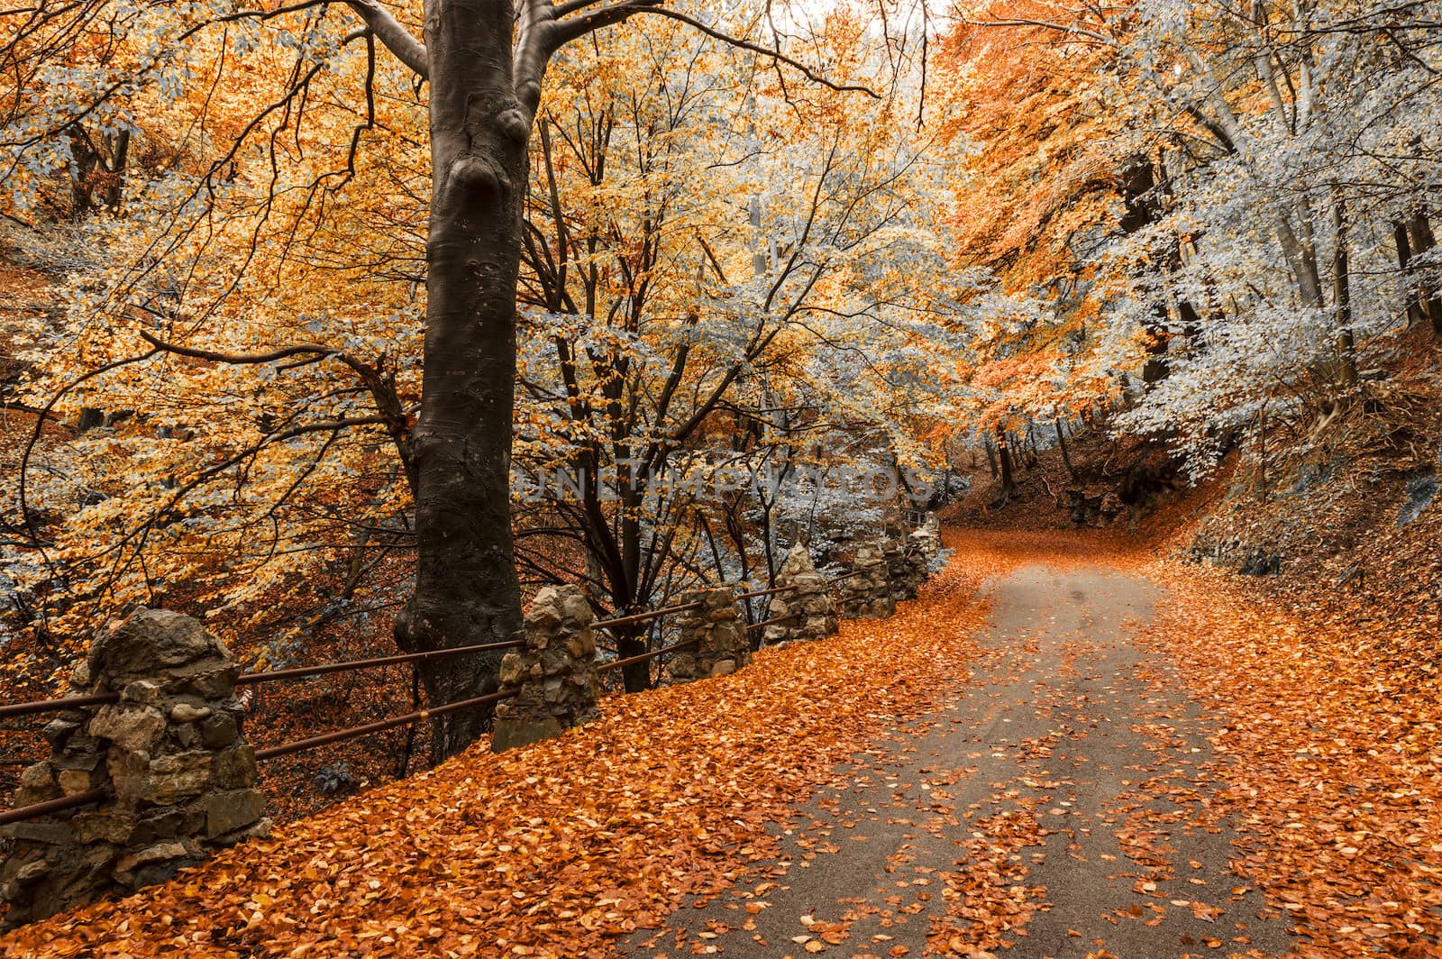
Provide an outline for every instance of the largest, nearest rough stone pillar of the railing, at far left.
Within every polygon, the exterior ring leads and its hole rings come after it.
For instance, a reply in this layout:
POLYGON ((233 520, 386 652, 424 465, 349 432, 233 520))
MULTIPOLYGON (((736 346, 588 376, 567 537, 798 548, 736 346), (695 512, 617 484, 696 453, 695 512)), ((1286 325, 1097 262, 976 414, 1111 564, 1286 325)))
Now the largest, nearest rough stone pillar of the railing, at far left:
POLYGON ((50 757, 22 773, 14 805, 107 795, 0 826, 13 842, 0 865, 7 926, 169 880, 211 849, 268 834, 232 698, 239 672, 200 623, 164 610, 140 610, 91 646, 74 694, 118 692, 120 702, 52 720, 50 757))

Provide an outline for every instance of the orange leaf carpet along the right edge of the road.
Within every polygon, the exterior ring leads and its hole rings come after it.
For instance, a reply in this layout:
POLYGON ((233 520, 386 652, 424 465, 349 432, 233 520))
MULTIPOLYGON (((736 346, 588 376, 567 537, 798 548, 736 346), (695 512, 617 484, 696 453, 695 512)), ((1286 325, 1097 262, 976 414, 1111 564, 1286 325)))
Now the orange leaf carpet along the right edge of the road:
POLYGON ((1358 635, 1260 604, 1220 573, 1171 590, 1142 639, 1227 717, 1213 737, 1239 868, 1291 913, 1299 956, 1442 950, 1442 679, 1436 637, 1358 635))

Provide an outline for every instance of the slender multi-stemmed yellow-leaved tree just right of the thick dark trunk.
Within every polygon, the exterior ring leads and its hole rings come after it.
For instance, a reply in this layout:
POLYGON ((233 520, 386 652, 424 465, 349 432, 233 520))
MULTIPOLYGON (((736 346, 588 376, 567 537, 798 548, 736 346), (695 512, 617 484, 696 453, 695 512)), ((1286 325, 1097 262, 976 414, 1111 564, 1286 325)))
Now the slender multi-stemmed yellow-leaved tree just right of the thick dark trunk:
MULTIPOLYGON (((833 76, 894 82, 867 63, 861 20, 836 14, 825 42, 833 76)), ((769 575, 764 486, 833 438, 829 414, 857 392, 819 372, 845 350, 895 372, 924 330, 888 304, 946 284, 939 257, 916 255, 926 143, 895 95, 786 89, 764 58, 694 50, 678 30, 561 71, 577 79, 539 120, 522 271, 521 402, 538 410, 518 461, 541 487, 522 558, 557 570, 529 542, 574 538, 583 561, 554 575, 588 580, 616 610, 750 577, 753 562, 769 575)), ((852 420, 887 433, 884 415, 852 420)), ((619 652, 642 652, 647 629, 619 635, 619 652)), ((639 665, 627 685, 646 676, 639 665)))

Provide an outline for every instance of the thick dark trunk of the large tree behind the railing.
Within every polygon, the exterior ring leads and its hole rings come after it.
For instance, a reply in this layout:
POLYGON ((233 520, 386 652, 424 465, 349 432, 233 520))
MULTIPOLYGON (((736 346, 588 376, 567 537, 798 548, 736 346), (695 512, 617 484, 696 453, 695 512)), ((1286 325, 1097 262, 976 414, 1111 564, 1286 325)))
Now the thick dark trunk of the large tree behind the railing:
MULTIPOLYGON (((395 627, 407 650, 499 642, 521 629, 509 472, 529 123, 513 92, 512 25, 509 3, 427 3, 433 185, 417 567, 395 627)), ((490 692, 500 656, 423 663, 427 699, 490 692)), ((460 751, 489 720, 489 710, 433 720, 433 754, 460 751)))

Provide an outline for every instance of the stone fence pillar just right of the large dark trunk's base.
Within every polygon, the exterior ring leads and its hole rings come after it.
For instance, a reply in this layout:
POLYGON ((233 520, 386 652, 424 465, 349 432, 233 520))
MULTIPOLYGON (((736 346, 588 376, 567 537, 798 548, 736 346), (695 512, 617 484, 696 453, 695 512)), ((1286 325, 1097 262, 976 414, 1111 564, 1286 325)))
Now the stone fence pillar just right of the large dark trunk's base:
POLYGON ((500 660, 502 691, 519 695, 496 707, 492 751, 548 740, 600 715, 594 619, 578 585, 536 593, 526 611, 525 646, 500 660))

